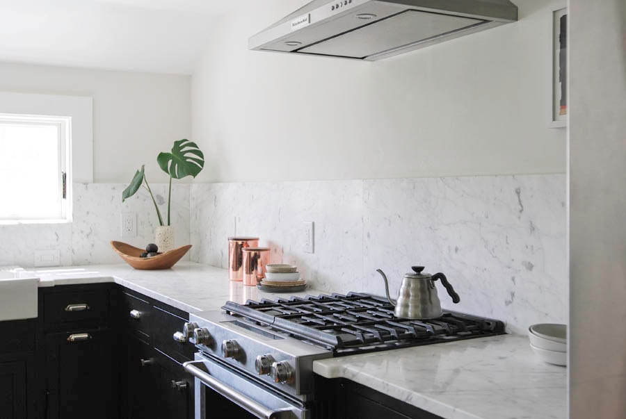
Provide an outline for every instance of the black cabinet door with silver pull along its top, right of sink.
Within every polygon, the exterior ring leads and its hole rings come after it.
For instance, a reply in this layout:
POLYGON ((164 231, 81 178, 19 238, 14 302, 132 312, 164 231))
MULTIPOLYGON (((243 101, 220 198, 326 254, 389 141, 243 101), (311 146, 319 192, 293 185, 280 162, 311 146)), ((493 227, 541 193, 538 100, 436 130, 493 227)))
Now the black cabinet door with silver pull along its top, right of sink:
POLYGON ((47 418, 118 417, 111 329, 46 335, 47 418))

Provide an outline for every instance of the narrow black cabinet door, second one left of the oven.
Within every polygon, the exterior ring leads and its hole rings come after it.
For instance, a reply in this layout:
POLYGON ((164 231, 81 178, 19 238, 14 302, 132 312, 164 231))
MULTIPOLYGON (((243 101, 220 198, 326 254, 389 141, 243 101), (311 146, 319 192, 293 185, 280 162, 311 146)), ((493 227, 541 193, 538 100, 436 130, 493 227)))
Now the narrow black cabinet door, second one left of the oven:
POLYGON ((142 340, 125 337, 122 365, 122 418, 166 418, 159 415, 159 376, 161 368, 152 347, 142 340))

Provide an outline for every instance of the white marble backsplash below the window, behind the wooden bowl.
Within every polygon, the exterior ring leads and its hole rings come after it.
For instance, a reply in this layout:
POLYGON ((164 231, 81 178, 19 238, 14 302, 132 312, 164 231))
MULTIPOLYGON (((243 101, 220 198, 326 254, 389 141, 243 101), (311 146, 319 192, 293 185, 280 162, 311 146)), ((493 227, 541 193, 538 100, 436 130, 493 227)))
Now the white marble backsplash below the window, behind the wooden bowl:
MULTIPOLYGON (((165 183, 150 185, 166 217, 165 183)), ((120 240, 137 247, 154 242, 157 213, 147 192, 122 203, 122 183, 74 183, 73 221, 66 224, 0 225, 0 265, 34 265, 35 250, 58 249, 61 265, 120 263, 109 242, 120 240), (121 213, 137 213, 137 236, 121 237, 121 213)), ((189 185, 172 186, 172 225, 176 244, 189 243, 189 185)))

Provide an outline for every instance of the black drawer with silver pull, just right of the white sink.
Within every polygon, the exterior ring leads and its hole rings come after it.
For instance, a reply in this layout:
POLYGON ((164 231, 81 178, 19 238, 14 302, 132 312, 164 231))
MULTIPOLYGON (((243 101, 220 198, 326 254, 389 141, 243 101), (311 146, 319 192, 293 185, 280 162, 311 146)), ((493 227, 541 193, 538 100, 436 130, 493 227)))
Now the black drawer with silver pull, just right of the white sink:
POLYGON ((72 290, 44 294, 45 324, 109 320, 109 290, 72 290))

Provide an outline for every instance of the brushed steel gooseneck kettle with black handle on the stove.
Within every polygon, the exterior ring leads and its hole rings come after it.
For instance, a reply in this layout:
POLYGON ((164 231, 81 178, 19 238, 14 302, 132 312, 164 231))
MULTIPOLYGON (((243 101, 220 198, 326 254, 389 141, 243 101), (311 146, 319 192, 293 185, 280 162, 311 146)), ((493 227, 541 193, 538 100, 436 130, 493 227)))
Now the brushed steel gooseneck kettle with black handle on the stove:
POLYGON ((376 270, 383 276, 387 299, 396 307, 394 315, 397 318, 410 320, 440 318, 443 315, 443 311, 437 295, 437 288, 435 288, 435 281, 438 279, 441 279, 441 283, 446 287, 448 294, 452 297, 452 302, 454 304, 460 302, 458 294, 454 291, 444 274, 431 275, 422 273, 424 266, 412 266, 411 269, 413 272, 404 275, 397 302, 394 302, 389 296, 387 275, 380 269, 376 270))

